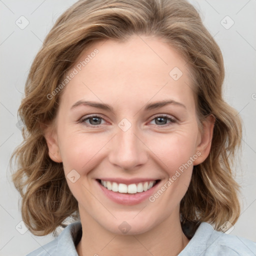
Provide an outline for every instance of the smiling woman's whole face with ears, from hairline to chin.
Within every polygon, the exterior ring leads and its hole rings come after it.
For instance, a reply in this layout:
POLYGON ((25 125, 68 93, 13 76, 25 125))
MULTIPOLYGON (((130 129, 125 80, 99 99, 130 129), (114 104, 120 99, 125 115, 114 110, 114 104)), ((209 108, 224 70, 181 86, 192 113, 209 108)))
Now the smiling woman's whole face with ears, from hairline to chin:
POLYGON ((179 219, 213 128, 198 130, 186 61, 159 38, 134 35, 94 43, 67 74, 45 137, 81 219, 123 234, 179 219))

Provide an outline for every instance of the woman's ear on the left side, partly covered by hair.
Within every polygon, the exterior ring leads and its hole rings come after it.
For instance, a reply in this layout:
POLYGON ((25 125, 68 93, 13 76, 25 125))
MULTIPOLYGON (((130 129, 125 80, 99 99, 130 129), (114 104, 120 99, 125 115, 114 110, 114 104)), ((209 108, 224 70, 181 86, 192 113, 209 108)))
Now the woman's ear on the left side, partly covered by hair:
POLYGON ((50 159, 54 162, 62 162, 54 124, 43 124, 41 127, 43 129, 43 135, 48 146, 48 154, 50 159))

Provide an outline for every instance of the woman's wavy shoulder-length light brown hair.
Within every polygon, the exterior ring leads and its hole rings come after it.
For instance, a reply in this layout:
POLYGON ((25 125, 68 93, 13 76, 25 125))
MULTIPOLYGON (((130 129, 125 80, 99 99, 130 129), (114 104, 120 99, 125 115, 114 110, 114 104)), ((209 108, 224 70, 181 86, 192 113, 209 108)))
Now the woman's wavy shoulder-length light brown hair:
POLYGON ((234 224, 237 220, 239 185, 231 166, 240 145, 241 119, 223 100, 222 54, 198 11, 185 0, 79 0, 56 20, 44 39, 18 109, 25 127, 23 142, 11 156, 17 164, 12 180, 22 197, 22 218, 33 234, 49 234, 67 217, 79 218, 63 165, 50 159, 43 134, 42 125, 54 121, 61 93, 52 99, 46 95, 57 88, 93 42, 125 41, 133 34, 159 37, 187 61, 198 120, 202 123, 209 114, 215 117, 209 155, 193 166, 189 187, 180 201, 182 229, 191 237, 201 221, 221 230, 226 221, 234 224))

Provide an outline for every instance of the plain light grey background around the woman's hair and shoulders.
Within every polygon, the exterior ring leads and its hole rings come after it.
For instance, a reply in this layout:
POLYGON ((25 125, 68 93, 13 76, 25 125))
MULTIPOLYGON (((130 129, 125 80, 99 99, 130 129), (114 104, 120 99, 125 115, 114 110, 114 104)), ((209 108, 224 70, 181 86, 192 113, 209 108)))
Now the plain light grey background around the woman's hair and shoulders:
MULTIPOLYGON (((17 231, 21 221, 20 195, 10 181, 9 158, 22 141, 17 108, 29 67, 56 18, 74 2, 0 0, 0 255, 25 255, 53 239, 51 235, 38 237, 29 231, 17 231), (23 29, 15 23, 21 23, 20 16, 29 22, 23 29)), ((242 157, 236 166, 243 205, 230 234, 256 241, 256 1, 190 2, 221 48, 226 72, 224 96, 239 111, 244 123, 242 157)))

